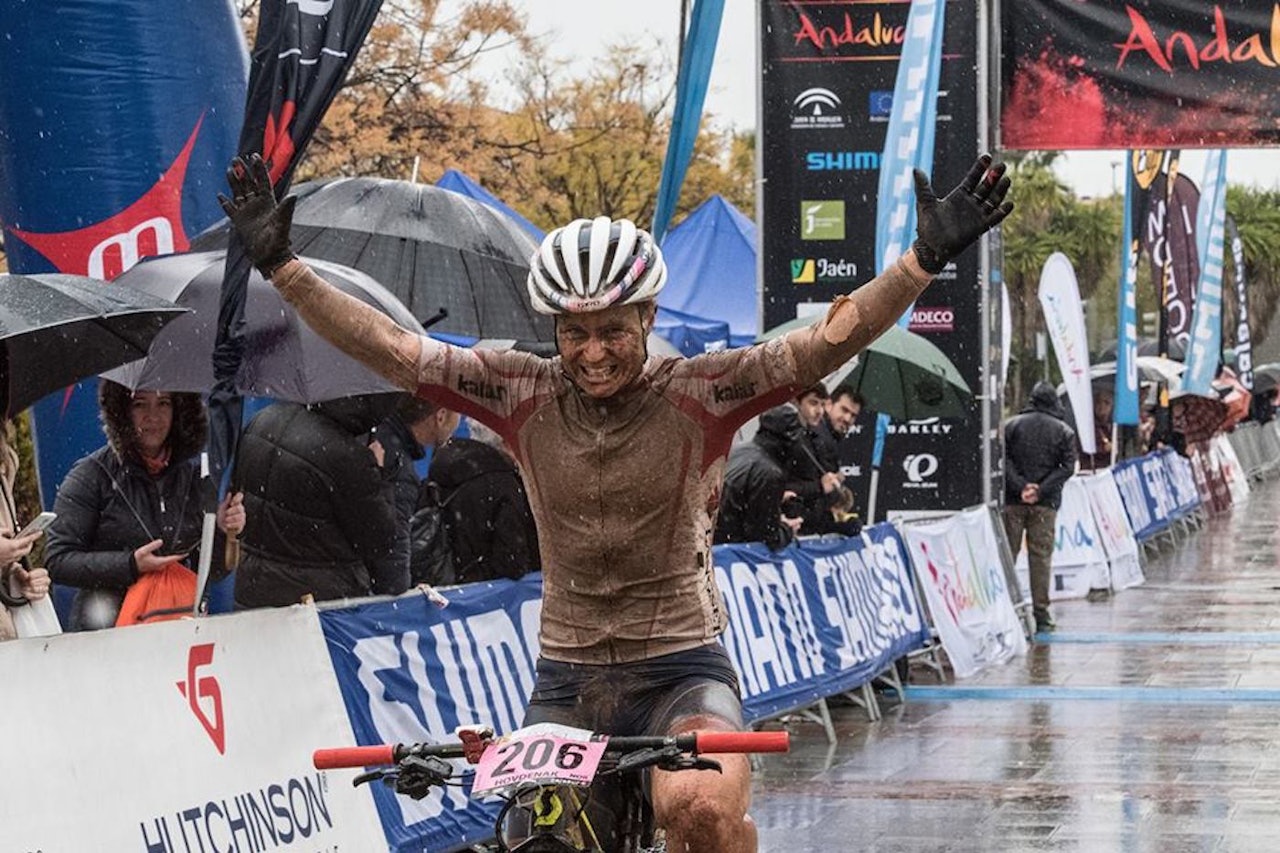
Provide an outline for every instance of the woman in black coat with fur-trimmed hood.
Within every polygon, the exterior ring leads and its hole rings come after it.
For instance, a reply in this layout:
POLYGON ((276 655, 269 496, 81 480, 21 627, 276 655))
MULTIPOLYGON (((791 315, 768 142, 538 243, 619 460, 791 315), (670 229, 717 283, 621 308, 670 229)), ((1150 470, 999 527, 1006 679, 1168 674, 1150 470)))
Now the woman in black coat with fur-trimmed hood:
MULTIPOLYGON (((198 557, 204 502, 200 452, 207 423, 200 394, 129 391, 104 379, 106 447, 76 462, 58 489, 45 558, 54 581, 79 588, 70 630, 115 625, 129 587, 172 562, 198 557)), ((225 574, 225 537, 244 528, 239 496, 218 507, 210 576, 225 574)))

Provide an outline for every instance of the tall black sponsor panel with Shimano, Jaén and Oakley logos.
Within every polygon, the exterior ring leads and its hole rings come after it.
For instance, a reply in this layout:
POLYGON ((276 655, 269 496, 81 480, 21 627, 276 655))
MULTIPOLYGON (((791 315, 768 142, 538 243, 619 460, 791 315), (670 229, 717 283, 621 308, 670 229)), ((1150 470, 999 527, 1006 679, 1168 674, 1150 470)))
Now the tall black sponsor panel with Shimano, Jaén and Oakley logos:
MULTIPOLYGON (((822 313, 876 274, 881 156, 906 40, 909 3, 760 3, 762 270, 764 328, 822 313)), ((977 3, 946 4, 933 178, 957 183, 977 155, 977 3)), ((978 252, 929 287, 908 328, 942 350, 970 388, 983 387, 978 252)), ((841 465, 867 506, 874 416, 841 444, 841 465)), ((877 497, 886 512, 982 502, 982 414, 890 424, 877 497)))

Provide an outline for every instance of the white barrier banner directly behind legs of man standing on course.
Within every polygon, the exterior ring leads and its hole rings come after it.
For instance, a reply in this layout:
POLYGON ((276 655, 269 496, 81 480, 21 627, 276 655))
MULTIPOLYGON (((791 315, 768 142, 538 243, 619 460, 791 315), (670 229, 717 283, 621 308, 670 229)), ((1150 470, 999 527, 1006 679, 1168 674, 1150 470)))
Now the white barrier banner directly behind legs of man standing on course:
MULTIPOLYGON (((1083 479, 1085 478, 1073 476, 1062 485, 1062 506, 1053 523, 1053 574, 1048 587, 1051 601, 1084 598, 1091 589, 1111 588, 1107 555, 1093 524, 1093 511, 1089 508, 1083 479)), ((1018 544, 1009 543, 1011 548, 1018 544)), ((1029 597, 1030 574, 1025 547, 1018 552, 1018 580, 1029 597)))

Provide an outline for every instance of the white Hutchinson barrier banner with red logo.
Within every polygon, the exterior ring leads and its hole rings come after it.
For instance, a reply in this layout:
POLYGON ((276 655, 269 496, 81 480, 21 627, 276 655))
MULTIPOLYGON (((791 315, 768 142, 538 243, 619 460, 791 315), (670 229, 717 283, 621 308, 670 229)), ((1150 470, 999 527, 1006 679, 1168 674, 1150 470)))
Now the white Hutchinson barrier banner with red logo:
POLYGON ((0 643, 5 850, 369 850, 315 608, 0 643))

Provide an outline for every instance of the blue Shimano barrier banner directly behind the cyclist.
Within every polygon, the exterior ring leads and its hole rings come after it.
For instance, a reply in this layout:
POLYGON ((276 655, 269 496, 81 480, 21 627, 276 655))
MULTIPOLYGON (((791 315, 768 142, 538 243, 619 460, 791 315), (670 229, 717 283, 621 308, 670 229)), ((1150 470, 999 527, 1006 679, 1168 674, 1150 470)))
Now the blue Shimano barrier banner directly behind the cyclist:
MULTIPOLYGON (((860 686, 928 639, 897 532, 804 543, 718 547, 716 575, 748 720, 860 686)), ((461 725, 518 727, 534 686, 541 575, 320 613, 342 698, 361 744, 442 740, 461 725)), ((461 771, 465 765, 458 765, 461 771)), ((470 783, 422 800, 375 785, 392 850, 454 849, 490 835, 499 802, 470 783)))

